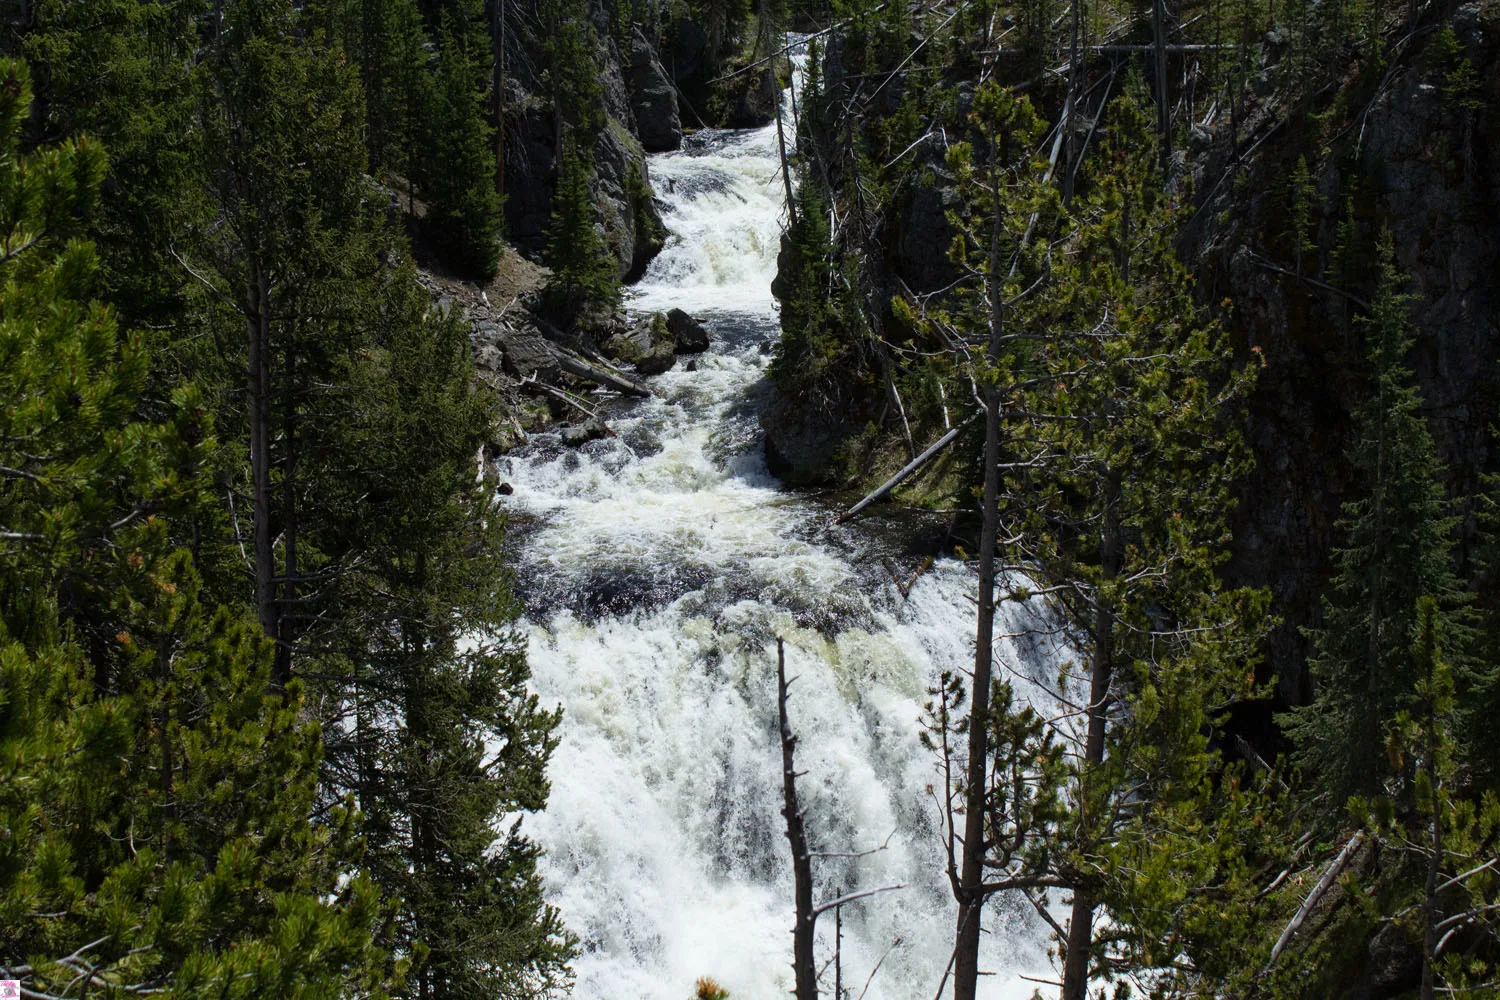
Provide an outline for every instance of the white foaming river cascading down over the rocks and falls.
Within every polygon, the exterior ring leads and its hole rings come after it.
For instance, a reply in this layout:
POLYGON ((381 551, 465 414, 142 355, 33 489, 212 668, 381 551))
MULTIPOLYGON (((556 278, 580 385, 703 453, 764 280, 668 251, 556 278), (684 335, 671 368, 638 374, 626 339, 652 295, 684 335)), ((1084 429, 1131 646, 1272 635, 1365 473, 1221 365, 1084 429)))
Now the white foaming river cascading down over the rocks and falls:
MULTIPOLYGON (((834 511, 766 472, 756 405, 777 336, 776 142, 774 124, 700 132, 651 160, 670 240, 632 307, 699 316, 712 348, 694 370, 682 358, 650 379, 656 397, 614 403, 614 438, 574 450, 537 435, 501 465, 536 690, 566 712, 550 805, 528 823, 580 942, 582 1000, 690 1000, 699 976, 735 1000, 788 996, 777 636, 800 678, 790 717, 814 846, 886 844, 816 861, 820 898, 906 885, 844 909, 848 996, 885 955, 867 997, 932 997, 952 948, 918 717, 936 676, 972 660, 975 576, 939 558, 903 598, 882 561, 912 573, 921 532, 832 528, 834 511)), ((992 903, 987 999, 1029 997, 1017 973, 1048 975, 1024 906, 992 903)), ((832 915, 819 933, 831 958, 832 915)))

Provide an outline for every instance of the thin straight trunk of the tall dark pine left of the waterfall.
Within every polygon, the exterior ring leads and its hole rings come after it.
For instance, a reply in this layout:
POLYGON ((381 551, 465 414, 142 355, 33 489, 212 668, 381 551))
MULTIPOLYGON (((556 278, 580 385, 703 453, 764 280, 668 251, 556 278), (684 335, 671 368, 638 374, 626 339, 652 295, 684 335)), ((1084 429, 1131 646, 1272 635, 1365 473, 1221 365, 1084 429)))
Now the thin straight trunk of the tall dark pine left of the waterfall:
POLYGON ((272 550, 270 301, 266 270, 256 264, 246 289, 246 369, 250 396, 250 517, 255 535, 255 615, 276 639, 276 583, 272 550))

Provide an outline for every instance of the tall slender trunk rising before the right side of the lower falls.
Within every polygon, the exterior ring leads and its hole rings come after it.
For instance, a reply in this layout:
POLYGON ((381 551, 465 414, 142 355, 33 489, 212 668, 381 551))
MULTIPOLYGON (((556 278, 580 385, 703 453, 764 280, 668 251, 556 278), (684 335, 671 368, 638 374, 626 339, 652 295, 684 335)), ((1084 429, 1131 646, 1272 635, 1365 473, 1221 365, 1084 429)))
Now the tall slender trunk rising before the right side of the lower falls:
MULTIPOLYGON (((999 142, 996 142, 998 145, 999 142)), ((1005 292, 1000 279, 1000 181, 996 154, 990 153, 990 195, 994 201, 986 294, 990 298, 990 343, 986 358, 1000 354, 1005 292)), ((984 909, 984 813, 990 756, 990 678, 994 660, 994 543, 999 535, 1000 495, 1000 391, 993 378, 984 382, 984 510, 980 519, 980 613, 974 640, 974 688, 969 699, 969 772, 964 792, 963 862, 958 870, 958 927, 954 942, 954 1000, 974 1000, 980 982, 980 921, 984 909)))

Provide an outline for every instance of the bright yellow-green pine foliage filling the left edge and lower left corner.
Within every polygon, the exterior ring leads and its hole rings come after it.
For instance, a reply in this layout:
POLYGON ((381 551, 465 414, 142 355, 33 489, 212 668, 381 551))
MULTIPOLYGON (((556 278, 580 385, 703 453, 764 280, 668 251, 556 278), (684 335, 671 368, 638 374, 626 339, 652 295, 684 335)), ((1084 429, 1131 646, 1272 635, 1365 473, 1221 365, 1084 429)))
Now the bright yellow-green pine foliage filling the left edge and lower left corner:
POLYGON ((212 424, 134 418, 146 364, 66 240, 86 142, 16 154, 24 66, 0 61, 0 975, 32 997, 381 997, 352 813, 309 822, 318 727, 268 693, 260 631, 202 603, 162 511, 212 424))

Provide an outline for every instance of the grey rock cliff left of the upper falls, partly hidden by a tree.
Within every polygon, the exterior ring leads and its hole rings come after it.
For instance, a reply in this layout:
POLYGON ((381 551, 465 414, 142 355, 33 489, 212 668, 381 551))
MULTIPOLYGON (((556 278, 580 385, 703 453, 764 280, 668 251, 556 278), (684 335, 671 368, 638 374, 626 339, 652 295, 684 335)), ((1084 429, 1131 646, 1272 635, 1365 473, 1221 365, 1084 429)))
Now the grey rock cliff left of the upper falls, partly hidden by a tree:
MULTIPOLYGON (((546 247, 556 186, 560 129, 544 78, 546 0, 514 0, 507 31, 508 133, 506 222, 512 243, 538 255, 546 247)), ((676 93, 651 42, 632 28, 627 49, 610 34, 606 0, 590 0, 606 121, 594 144, 594 198, 604 241, 620 276, 639 276, 662 249, 662 219, 652 202, 646 153, 676 148, 682 129, 676 93)))

